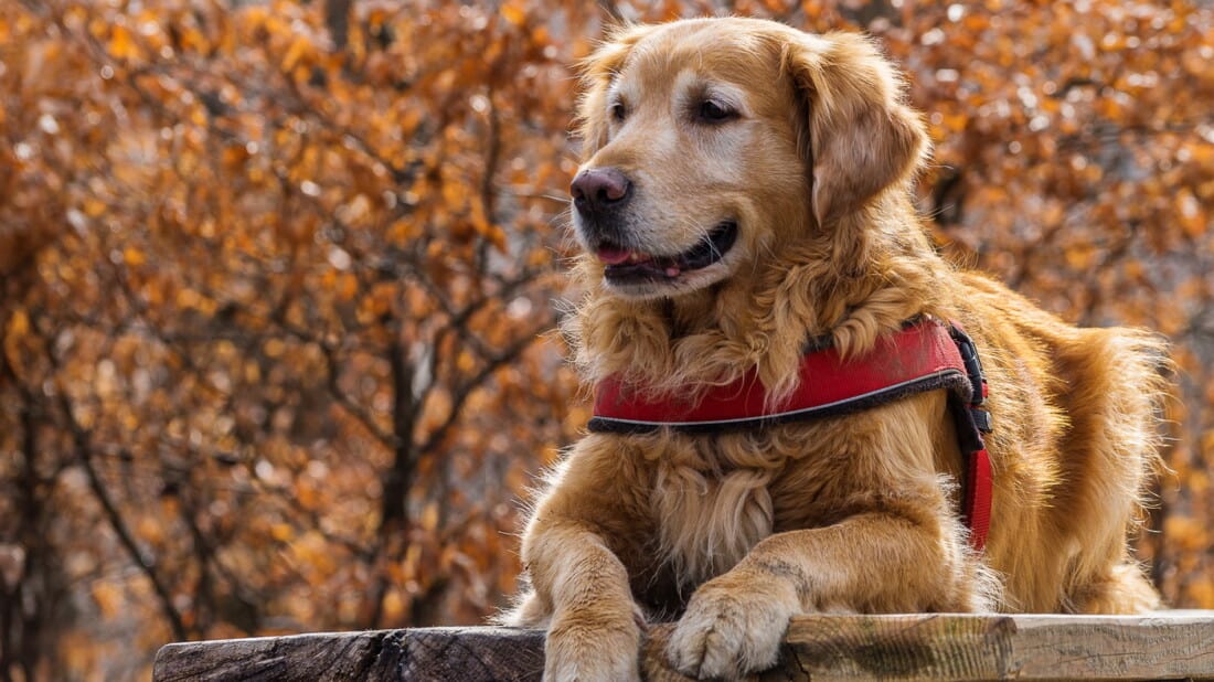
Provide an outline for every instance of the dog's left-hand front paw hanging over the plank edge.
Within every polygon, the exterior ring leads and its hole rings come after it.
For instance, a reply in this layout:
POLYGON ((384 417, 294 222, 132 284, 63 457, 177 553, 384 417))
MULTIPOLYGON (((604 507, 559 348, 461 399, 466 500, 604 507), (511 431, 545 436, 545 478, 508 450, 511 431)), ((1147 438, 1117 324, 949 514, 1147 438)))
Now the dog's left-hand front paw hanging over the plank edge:
POLYGON ((640 680, 643 623, 635 609, 630 614, 583 613, 555 618, 544 643, 544 681, 640 680))

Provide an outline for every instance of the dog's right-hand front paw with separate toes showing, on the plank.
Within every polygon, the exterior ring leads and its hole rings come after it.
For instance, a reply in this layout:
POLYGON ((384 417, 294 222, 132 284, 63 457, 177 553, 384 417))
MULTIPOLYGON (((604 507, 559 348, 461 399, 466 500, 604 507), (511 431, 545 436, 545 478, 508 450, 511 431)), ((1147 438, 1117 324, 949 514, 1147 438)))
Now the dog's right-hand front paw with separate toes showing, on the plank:
POLYGON ((683 675, 734 680, 776 665, 794 599, 704 584, 679 620, 666 658, 683 675))

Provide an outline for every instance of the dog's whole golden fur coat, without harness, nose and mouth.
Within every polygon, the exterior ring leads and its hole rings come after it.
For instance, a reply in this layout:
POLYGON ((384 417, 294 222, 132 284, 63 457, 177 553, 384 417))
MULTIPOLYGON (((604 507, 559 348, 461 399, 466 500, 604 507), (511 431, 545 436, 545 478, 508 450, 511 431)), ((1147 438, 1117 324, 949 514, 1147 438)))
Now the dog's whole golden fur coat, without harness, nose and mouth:
POLYGON ((617 283, 599 218, 575 214, 586 295, 567 333, 585 381, 686 397, 754 369, 778 399, 809 339, 852 354, 914 316, 955 319, 991 385, 994 494, 975 552, 940 391, 751 432, 588 434, 534 508, 531 587, 505 618, 548 627, 548 680, 635 678, 659 619, 677 619, 676 669, 733 677, 772 665, 798 613, 1157 606, 1127 535, 1158 460, 1162 343, 1067 325, 937 255, 909 198, 924 126, 869 40, 741 18, 629 27, 584 86, 583 170, 631 182, 617 239, 677 254, 738 227, 719 262, 617 283), (707 100, 732 118, 697 118, 707 100))

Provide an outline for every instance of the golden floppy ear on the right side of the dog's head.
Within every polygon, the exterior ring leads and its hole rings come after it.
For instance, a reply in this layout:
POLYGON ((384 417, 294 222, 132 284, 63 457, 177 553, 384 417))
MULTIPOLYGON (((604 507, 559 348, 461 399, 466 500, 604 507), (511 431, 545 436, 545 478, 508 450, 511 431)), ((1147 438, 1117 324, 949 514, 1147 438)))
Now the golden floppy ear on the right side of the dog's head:
POLYGON ((801 152, 812 167, 819 226, 918 170, 927 155, 923 120, 903 104, 901 76, 867 38, 802 34, 787 46, 785 68, 809 116, 801 152))

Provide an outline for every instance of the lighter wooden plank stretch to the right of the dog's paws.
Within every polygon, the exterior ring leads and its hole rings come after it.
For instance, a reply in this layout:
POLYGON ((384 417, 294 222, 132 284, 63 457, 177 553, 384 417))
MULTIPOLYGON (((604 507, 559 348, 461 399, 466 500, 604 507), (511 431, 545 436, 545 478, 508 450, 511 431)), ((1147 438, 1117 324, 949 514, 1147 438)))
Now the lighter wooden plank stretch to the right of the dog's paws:
POLYGON ((1214 678, 1214 612, 818 616, 784 658, 810 680, 1214 678))

